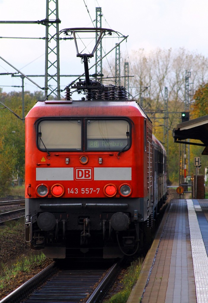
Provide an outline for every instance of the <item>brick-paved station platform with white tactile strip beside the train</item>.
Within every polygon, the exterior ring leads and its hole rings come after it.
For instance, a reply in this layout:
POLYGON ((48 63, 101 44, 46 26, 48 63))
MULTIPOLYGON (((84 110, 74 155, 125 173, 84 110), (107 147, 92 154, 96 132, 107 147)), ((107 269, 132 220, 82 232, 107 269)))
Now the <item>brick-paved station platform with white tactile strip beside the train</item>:
POLYGON ((207 253, 208 200, 171 200, 127 303, 207 303, 207 253))

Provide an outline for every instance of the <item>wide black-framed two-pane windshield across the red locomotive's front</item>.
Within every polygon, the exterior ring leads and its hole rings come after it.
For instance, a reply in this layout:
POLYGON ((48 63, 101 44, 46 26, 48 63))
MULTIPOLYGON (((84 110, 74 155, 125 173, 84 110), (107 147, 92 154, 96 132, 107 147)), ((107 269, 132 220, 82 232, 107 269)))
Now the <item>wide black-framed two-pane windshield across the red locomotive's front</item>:
POLYGON ((36 142, 42 151, 125 151, 130 139, 130 123, 122 119, 51 118, 37 124, 36 142))

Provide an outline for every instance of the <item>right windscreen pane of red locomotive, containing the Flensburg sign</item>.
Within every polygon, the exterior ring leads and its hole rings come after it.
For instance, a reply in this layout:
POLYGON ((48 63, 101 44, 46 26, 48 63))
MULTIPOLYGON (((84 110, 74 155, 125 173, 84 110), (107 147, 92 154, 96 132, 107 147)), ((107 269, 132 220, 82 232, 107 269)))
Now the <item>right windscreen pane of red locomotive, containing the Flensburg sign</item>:
POLYGON ((125 151, 130 148, 127 120, 86 120, 86 150, 125 151))

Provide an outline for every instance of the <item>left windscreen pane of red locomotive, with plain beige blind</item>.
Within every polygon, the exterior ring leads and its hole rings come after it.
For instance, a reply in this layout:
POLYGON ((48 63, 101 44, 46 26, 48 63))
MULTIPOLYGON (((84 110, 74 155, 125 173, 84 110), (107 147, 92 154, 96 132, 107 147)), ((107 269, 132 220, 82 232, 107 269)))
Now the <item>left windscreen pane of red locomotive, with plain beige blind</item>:
POLYGON ((81 120, 42 120, 38 124, 41 150, 82 150, 81 120))

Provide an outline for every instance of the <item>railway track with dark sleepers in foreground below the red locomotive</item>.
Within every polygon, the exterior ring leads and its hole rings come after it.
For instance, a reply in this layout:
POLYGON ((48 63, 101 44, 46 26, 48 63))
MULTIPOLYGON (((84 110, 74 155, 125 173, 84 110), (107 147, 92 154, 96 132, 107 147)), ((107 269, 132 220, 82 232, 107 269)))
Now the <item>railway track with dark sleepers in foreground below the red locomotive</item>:
POLYGON ((76 266, 63 269, 63 266, 54 262, 0 303, 20 303, 23 300, 24 303, 96 302, 118 272, 119 263, 110 268, 107 268, 107 264, 101 266, 101 263, 96 264, 97 268, 95 264, 86 266, 86 263, 81 268, 79 263, 79 269, 75 269, 76 266))

